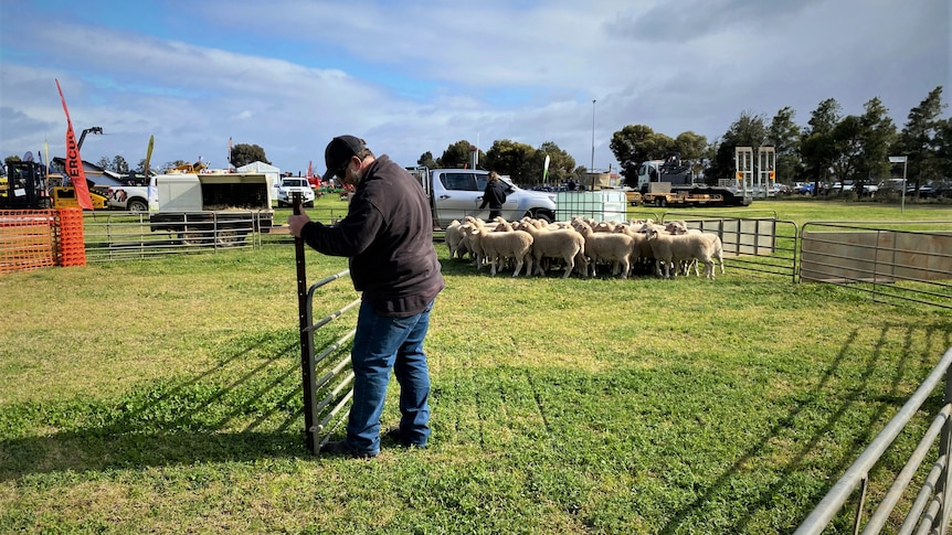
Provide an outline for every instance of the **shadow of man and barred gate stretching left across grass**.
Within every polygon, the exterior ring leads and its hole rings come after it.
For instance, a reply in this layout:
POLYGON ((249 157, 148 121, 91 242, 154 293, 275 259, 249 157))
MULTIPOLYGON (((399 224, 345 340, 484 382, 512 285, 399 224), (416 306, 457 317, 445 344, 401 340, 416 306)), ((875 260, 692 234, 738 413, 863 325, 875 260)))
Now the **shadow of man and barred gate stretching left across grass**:
POLYGON ((192 376, 139 385, 117 399, 13 407, 19 414, 4 417, 11 427, 25 419, 28 431, 63 430, 0 440, 0 481, 36 473, 310 458, 296 350, 290 344, 261 357, 262 347, 245 346, 192 376))

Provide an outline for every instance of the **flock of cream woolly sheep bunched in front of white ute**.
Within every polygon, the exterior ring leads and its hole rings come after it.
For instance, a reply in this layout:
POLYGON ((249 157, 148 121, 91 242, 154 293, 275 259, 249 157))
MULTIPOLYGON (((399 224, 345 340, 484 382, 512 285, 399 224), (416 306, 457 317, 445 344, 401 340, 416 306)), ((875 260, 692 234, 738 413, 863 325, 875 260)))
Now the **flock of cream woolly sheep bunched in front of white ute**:
POLYGON ((485 222, 466 216, 446 227, 449 259, 474 263, 489 275, 512 269, 512 277, 546 276, 561 270, 567 278, 600 274, 626 279, 637 275, 671 278, 694 270, 713 279, 715 264, 723 274, 723 245, 717 234, 688 228, 684 221, 659 225, 650 220, 604 222, 573 217, 547 223, 523 217, 485 222))

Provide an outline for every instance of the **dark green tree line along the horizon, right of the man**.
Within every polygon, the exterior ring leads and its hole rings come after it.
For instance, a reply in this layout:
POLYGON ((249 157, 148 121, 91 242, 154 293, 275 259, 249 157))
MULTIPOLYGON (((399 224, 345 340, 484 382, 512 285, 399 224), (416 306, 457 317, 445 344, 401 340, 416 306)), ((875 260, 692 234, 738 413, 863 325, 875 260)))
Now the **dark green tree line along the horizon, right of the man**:
MULTIPOLYGON (((627 125, 612 135, 610 149, 621 165, 624 183, 633 188, 637 185, 638 167, 647 160, 663 160, 677 153, 706 183, 716 185, 720 179, 734 175, 737 147, 754 150, 773 147, 781 183, 845 180, 858 185, 874 183, 890 176, 890 156, 905 156, 907 175, 918 190, 930 181, 952 178, 952 118, 942 117, 945 107, 939 86, 909 111, 905 126, 898 129, 878 97, 867 101, 858 116, 844 116, 839 103, 827 98, 811 113, 805 127, 794 121, 795 111, 791 107, 781 108, 770 121, 763 115, 744 111, 723 136, 712 141, 692 131, 671 138, 646 125, 627 125)), ((468 165, 472 148, 466 140, 457 141, 437 159, 424 152, 417 164, 468 165)), ((508 174, 523 185, 542 181, 547 156, 551 161, 549 183, 580 179, 586 171, 584 167, 575 167, 574 159, 551 141, 536 149, 504 139, 478 156, 480 169, 508 174)))

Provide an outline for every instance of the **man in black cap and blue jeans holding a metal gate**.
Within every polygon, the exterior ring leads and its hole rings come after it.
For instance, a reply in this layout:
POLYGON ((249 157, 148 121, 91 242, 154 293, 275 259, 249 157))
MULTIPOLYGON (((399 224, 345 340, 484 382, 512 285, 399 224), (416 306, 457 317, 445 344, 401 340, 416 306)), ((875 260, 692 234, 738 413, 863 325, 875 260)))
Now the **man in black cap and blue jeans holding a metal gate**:
POLYGON ((433 247, 430 203, 420 182, 385 154, 374 158, 362 139, 338 136, 324 152, 327 172, 352 184, 347 216, 332 226, 307 214, 288 217, 290 233, 319 253, 350 259, 361 291, 353 338, 353 404, 347 438, 322 452, 375 457, 390 371, 400 383, 400 426, 387 435, 423 448, 430 439, 430 371, 423 340, 430 310, 444 287, 433 247))

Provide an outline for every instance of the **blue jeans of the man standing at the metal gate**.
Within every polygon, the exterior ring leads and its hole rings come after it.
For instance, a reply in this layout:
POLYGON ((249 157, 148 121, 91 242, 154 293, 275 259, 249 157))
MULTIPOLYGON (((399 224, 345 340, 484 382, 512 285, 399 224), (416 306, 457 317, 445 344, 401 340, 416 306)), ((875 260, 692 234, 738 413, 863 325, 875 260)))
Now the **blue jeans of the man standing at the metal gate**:
POLYGON ((353 404, 347 424, 348 449, 380 451, 380 415, 390 383, 390 370, 400 383, 400 431, 403 440, 426 446, 430 439, 430 370, 423 339, 430 328, 430 310, 410 318, 388 318, 363 301, 357 317, 351 361, 353 404))

